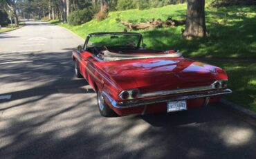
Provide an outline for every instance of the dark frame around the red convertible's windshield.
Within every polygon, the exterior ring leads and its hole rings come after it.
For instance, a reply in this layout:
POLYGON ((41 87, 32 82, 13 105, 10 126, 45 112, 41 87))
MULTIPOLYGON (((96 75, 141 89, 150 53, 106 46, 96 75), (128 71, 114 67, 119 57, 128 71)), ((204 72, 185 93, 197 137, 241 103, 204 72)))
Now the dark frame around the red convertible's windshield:
MULTIPOLYGON (((95 32, 95 33, 91 33, 86 36, 83 48, 84 48, 84 50, 86 50, 86 48, 88 47, 87 45, 88 45, 89 39, 91 37, 114 36, 114 35, 138 36, 138 44, 137 44, 136 48, 139 48, 141 44, 143 46, 143 35, 141 35, 140 33, 137 33, 137 32, 95 32)), ((116 46, 116 47, 118 47, 118 46, 116 46)))

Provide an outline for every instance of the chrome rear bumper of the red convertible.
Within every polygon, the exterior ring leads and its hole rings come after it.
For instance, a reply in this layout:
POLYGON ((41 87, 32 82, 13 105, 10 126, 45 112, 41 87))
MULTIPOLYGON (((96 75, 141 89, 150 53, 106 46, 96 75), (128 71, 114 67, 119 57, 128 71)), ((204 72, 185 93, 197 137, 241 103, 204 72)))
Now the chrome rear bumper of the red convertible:
POLYGON ((146 104, 154 104, 154 103, 161 103, 161 102, 169 102, 169 101, 175 101, 175 100, 190 100, 194 98, 199 97, 210 97, 214 95, 223 95, 232 93, 230 89, 221 89, 221 90, 214 90, 214 91, 207 91, 207 92, 201 92, 201 93, 192 93, 189 95, 175 95, 171 97, 159 97, 154 100, 129 100, 127 102, 116 102, 113 100, 107 93, 102 91, 102 95, 105 97, 106 102, 111 104, 113 107, 117 109, 125 109, 125 108, 131 108, 134 106, 141 106, 146 104))

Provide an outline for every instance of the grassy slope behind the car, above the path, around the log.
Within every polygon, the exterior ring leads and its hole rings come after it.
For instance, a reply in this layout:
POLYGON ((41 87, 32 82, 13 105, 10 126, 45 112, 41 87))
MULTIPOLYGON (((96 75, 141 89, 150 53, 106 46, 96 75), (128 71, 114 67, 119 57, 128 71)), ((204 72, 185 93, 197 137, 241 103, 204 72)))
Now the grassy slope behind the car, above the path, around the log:
MULTIPOLYGON (((185 19, 185 12, 186 4, 170 5, 149 10, 110 12, 103 21, 93 19, 81 26, 61 26, 84 38, 90 32, 122 31, 125 26, 120 21, 136 23, 168 17, 185 19)), ((185 26, 133 31, 143 34, 149 48, 175 48, 190 57, 256 57, 256 6, 206 8, 206 23, 209 35, 205 40, 183 39, 181 28, 185 26)))

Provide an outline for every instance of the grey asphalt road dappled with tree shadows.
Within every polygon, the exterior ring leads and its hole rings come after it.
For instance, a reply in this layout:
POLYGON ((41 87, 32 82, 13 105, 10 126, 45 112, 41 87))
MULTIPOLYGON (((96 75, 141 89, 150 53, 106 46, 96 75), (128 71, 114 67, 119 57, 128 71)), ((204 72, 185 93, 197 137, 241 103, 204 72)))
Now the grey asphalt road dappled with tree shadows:
POLYGON ((75 79, 83 40, 49 24, 0 34, 0 158, 256 158, 256 123, 221 104, 103 118, 75 79))

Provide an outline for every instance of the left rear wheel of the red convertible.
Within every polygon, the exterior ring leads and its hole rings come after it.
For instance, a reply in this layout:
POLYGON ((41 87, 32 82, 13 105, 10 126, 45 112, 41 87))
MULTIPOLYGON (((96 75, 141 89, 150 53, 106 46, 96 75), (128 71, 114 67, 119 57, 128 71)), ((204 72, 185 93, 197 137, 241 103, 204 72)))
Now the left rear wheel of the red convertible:
POLYGON ((114 117, 116 113, 109 108, 107 103, 104 101, 104 98, 100 91, 97 91, 97 101, 98 101, 98 109, 100 111, 100 115, 104 117, 114 117))

